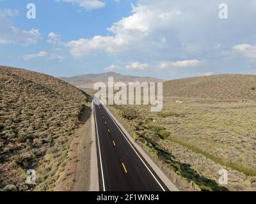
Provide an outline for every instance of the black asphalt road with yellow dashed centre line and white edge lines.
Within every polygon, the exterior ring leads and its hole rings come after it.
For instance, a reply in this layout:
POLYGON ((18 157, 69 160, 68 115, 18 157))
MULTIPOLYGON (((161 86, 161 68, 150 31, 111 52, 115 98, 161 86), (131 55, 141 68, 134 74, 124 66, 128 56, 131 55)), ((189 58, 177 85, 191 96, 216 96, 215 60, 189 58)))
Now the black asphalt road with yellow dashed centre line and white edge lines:
POLYGON ((100 191, 168 191, 104 106, 94 110, 100 191))

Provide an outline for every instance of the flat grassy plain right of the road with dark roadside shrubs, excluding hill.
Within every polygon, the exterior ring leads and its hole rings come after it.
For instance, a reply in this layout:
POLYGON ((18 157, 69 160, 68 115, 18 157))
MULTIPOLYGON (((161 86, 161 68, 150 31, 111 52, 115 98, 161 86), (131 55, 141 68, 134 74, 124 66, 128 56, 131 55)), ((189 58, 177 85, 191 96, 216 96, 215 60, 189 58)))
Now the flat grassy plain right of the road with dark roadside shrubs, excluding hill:
MULTIPOLYGON (((171 114, 169 117, 165 117, 164 114, 162 117, 159 113, 150 113, 147 106, 113 106, 113 108, 133 129, 134 138, 145 148, 149 147, 153 154, 169 167, 170 171, 173 171, 173 165, 177 166, 178 162, 180 169, 174 169, 174 171, 177 175, 180 175, 180 171, 183 172, 182 177, 188 179, 189 184, 192 182, 195 189, 220 190, 216 187, 216 184, 220 186, 218 171, 225 168, 229 175, 228 186, 225 186, 227 189, 256 190, 256 152, 253 135, 255 126, 249 123, 252 118, 248 117, 247 122, 243 119, 244 125, 241 127, 240 124, 240 131, 236 133, 232 126, 242 122, 241 117, 236 118, 234 115, 228 117, 228 110, 223 108, 221 110, 226 114, 225 120, 231 121, 232 118, 232 122, 223 123, 221 116, 220 120, 212 120, 216 117, 214 115, 216 110, 211 108, 205 120, 202 106, 206 105, 200 103, 201 108, 199 104, 197 105, 198 110, 195 108, 195 103, 185 103, 177 107, 176 103, 166 102, 164 110, 173 112, 179 110, 179 117, 176 114, 171 114), (249 124, 250 128, 245 129, 246 124, 249 124), (172 161, 170 156, 175 159, 172 161), (191 166, 191 169, 182 170, 181 167, 184 164, 191 166), (202 175, 202 178, 191 179, 191 174, 202 175), (204 179, 209 180, 205 183, 202 182, 204 179), (216 182, 213 186, 212 180, 216 182)), ((249 105, 249 108, 252 107, 249 105)), ((253 109, 255 110, 252 108, 250 113, 252 115, 255 114, 253 109)), ((232 110, 239 112, 240 109, 232 108, 232 110)), ((218 114, 221 115, 220 113, 218 108, 218 114)))

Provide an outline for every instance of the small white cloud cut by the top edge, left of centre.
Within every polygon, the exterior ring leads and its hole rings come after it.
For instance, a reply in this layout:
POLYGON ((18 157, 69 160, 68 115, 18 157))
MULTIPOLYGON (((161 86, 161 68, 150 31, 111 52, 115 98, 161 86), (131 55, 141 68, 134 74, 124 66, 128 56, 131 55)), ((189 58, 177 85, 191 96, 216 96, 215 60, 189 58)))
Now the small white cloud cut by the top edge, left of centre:
POLYGON ((78 4, 80 7, 86 8, 87 10, 95 10, 103 8, 106 4, 99 0, 55 0, 57 2, 64 1, 67 3, 78 4))

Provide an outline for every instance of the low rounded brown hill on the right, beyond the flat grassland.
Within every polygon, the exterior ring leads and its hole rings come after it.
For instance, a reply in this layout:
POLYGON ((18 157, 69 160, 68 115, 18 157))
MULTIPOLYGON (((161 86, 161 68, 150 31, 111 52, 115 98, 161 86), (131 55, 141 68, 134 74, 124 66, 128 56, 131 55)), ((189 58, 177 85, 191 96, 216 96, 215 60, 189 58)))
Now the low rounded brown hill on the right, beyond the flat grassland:
POLYGON ((212 75, 164 82, 164 96, 236 101, 256 99, 256 75, 212 75))

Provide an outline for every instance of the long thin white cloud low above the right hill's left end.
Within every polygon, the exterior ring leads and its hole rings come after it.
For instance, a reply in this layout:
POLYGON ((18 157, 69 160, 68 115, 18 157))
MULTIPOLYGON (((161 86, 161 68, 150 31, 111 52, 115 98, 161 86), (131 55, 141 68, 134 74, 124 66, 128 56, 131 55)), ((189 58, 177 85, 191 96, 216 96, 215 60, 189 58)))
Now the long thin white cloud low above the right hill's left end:
POLYGON ((159 64, 160 69, 168 69, 168 68, 184 68, 184 67, 195 67, 198 66, 202 61, 198 61, 197 59, 186 60, 186 61, 176 61, 176 62, 161 62, 159 64))

